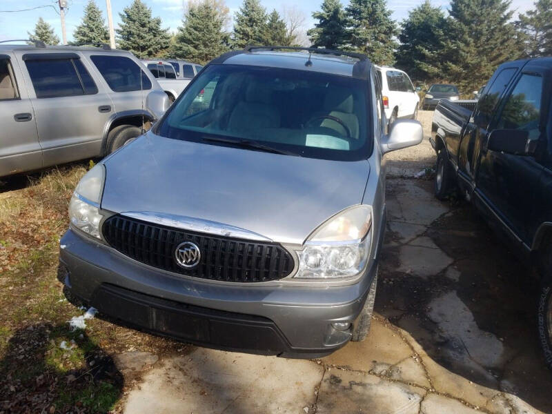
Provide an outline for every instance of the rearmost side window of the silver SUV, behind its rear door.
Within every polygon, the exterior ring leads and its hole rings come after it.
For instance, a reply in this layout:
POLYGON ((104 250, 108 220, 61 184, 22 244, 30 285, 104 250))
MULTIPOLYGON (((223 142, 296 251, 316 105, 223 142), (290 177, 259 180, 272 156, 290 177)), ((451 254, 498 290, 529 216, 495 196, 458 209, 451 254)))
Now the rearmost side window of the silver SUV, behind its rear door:
POLYGON ((91 56, 113 92, 151 89, 151 81, 135 61, 124 56, 91 56))

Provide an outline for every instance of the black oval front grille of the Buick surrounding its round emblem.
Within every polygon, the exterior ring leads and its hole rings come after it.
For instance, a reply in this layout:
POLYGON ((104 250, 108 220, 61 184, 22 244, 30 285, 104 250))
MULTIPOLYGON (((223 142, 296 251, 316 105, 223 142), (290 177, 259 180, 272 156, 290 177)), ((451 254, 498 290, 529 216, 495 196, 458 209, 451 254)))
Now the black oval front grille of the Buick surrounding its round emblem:
POLYGON ((112 248, 138 262, 201 279, 266 282, 288 276, 294 265, 288 251, 277 243, 209 235, 121 215, 106 219, 102 234, 112 248), (181 268, 176 262, 175 248, 184 241, 201 250, 195 268, 181 268))

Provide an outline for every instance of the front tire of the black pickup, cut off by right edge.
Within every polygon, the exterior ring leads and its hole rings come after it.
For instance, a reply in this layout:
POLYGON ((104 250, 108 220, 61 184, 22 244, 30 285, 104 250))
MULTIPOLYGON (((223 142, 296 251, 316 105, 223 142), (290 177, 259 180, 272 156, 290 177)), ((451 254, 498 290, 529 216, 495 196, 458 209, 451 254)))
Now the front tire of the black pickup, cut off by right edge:
POLYGON ((544 251, 543 262, 544 277, 540 284, 537 304, 537 328, 544 362, 552 369, 552 239, 550 237, 544 251))

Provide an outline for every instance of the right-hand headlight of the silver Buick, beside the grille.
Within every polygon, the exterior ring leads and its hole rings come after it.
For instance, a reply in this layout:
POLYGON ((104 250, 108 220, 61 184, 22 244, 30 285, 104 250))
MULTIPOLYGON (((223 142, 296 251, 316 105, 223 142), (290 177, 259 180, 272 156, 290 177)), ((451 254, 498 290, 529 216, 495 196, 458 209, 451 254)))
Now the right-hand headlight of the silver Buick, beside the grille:
POLYGON ((354 206, 328 219, 297 251, 296 278, 354 277, 368 263, 372 241, 372 208, 354 206))

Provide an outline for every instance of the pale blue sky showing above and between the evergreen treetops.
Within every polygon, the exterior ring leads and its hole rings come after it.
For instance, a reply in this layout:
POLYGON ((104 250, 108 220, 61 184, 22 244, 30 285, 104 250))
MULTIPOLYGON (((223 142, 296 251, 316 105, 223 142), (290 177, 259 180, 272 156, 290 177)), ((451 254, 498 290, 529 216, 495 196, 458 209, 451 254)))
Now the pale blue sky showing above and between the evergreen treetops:
MULTIPOLYGON (((66 31, 68 41, 72 40, 72 34, 75 28, 81 22, 84 7, 88 0, 68 0, 68 10, 66 12, 66 31)), ((119 12, 128 6, 132 0, 111 0, 113 19, 115 28, 120 21, 119 12)), ((169 28, 175 32, 178 26, 181 26, 184 14, 184 5, 187 0, 144 0, 152 9, 154 17, 161 17, 164 28, 169 28)), ((305 16, 304 30, 314 26, 315 21, 311 14, 319 10, 322 0, 261 0, 263 6, 271 11, 273 9, 282 12, 284 8, 297 8, 305 16)), ((103 11, 103 17, 106 17, 106 1, 96 0, 97 5, 103 11)), ((342 0, 342 3, 347 3, 342 0)), ((402 21, 408 16, 408 10, 415 8, 422 3, 422 0, 387 0, 387 6, 393 11, 393 19, 402 21)), ((433 6, 441 6, 443 10, 449 7, 447 0, 432 0, 433 6)), ((226 0, 226 6, 230 9, 230 16, 233 16, 242 4, 242 0, 226 0)), ((513 0, 512 9, 517 12, 526 12, 531 9, 533 1, 531 0, 513 0)), ((27 32, 34 30, 34 24, 37 19, 42 17, 55 29, 59 39, 61 39, 61 21, 57 0, 0 0, 0 41, 7 39, 27 39, 27 32), (39 6, 45 6, 40 7, 39 6), (8 12, 10 10, 27 10, 21 12, 8 12)), ((107 24, 107 19, 106 19, 107 24)))

